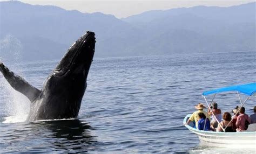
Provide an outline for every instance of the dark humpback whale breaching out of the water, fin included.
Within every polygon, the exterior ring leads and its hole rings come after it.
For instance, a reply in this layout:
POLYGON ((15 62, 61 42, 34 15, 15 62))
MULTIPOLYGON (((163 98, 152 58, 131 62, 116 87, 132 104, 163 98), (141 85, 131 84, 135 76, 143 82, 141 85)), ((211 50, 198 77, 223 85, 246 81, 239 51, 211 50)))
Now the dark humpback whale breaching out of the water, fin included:
POLYGON ((28 121, 77 117, 95 43, 93 32, 87 31, 80 37, 45 80, 42 90, 31 86, 0 62, 0 71, 5 79, 31 101, 28 121))

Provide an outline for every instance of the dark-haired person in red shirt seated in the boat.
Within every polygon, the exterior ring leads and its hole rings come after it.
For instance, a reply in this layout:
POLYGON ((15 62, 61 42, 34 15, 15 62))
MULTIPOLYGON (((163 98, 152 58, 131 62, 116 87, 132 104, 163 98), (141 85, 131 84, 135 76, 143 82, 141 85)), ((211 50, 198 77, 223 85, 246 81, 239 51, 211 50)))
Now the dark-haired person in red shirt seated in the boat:
POLYGON ((244 131, 248 128, 248 124, 251 123, 250 117, 245 114, 245 108, 241 107, 239 111, 239 116, 237 117, 237 122, 235 125, 237 126, 237 131, 244 131))

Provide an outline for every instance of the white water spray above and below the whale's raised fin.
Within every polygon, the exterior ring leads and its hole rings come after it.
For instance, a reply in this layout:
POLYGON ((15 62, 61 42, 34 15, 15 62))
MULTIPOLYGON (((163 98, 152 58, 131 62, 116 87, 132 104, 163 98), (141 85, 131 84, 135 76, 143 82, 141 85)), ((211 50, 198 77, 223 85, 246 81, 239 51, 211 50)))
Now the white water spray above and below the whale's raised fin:
MULTIPOLYGON (((8 35, 0 40, 0 61, 17 74, 23 76, 19 61, 22 59, 22 44, 17 38, 8 35)), ((29 113, 29 100, 19 92, 16 92, 0 73, 0 111, 3 113, 3 123, 24 122, 29 113)))

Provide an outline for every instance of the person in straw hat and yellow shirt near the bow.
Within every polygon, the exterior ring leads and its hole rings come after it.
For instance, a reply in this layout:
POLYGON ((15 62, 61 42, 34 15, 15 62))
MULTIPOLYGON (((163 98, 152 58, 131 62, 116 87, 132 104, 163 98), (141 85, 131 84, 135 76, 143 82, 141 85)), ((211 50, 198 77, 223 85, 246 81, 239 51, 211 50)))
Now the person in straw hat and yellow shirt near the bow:
POLYGON ((187 123, 185 124, 190 124, 191 121, 196 122, 196 128, 198 129, 198 121, 200 120, 199 118, 199 113, 204 113, 205 116, 207 116, 208 120, 211 120, 210 116, 207 115, 206 111, 204 111, 204 104, 199 103, 197 106, 194 106, 194 108, 198 109, 197 111, 194 111, 194 113, 190 116, 190 118, 187 120, 187 123))

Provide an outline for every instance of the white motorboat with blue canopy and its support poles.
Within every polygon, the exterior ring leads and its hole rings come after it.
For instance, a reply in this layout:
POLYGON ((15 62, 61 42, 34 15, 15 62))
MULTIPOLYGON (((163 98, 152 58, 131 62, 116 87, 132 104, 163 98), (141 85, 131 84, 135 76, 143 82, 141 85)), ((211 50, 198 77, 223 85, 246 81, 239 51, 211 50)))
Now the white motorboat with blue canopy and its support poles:
MULTIPOLYGON (((208 110, 212 112, 211 104, 214 101, 216 95, 221 94, 237 94, 240 107, 243 107, 245 103, 250 100, 254 95, 256 95, 256 83, 248 83, 245 85, 237 85, 237 86, 229 86, 223 87, 213 90, 208 90, 203 92, 202 96, 208 106, 208 110), (242 101, 240 95, 246 95, 247 98, 242 101), (211 101, 207 100, 207 97, 212 97, 211 101)), ((213 112, 212 112, 213 114, 213 112)), ((205 131, 205 130, 198 130, 194 127, 194 123, 190 122, 186 124, 188 118, 190 118, 192 114, 188 114, 184 118, 184 125, 185 127, 196 134, 199 137, 200 145, 202 146, 212 146, 212 147, 222 147, 222 148, 248 148, 248 149, 255 149, 256 147, 256 124, 248 125, 248 129, 246 131, 240 132, 225 132, 225 129, 221 132, 217 131, 205 131)), ((214 114, 213 114, 214 116, 214 114)), ((215 117, 215 116, 214 116, 215 117)), ((220 121, 217 120, 220 124, 220 121)), ((231 120, 232 122, 232 120, 231 120)))

